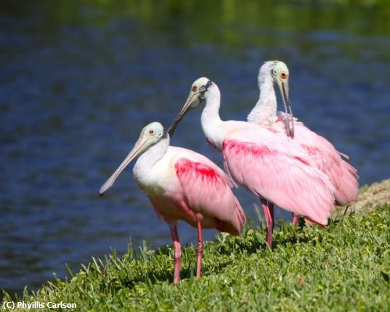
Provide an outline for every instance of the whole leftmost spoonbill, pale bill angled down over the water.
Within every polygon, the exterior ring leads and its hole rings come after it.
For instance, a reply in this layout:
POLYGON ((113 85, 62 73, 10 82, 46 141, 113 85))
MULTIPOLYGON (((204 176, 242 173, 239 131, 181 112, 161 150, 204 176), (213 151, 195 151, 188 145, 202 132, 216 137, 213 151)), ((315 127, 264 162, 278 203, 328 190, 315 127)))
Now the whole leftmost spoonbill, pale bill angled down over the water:
POLYGON ((211 160, 192 150, 169 146, 169 134, 161 123, 145 126, 125 160, 99 194, 103 195, 125 167, 138 157, 133 168, 135 182, 145 191, 157 216, 169 225, 174 245, 174 283, 180 279, 182 247, 177 220, 198 230, 196 277, 201 276, 202 228, 216 228, 240 235, 246 223, 243 208, 231 191, 229 177, 211 160))

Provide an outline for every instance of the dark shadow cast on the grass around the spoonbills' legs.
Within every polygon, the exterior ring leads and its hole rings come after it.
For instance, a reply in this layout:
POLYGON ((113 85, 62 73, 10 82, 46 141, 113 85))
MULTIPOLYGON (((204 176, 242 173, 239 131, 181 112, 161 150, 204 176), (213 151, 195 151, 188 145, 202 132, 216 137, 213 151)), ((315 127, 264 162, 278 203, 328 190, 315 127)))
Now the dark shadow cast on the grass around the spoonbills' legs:
MULTIPOLYGON (((329 225, 338 225, 342 223, 342 220, 333 220, 330 221, 329 225)), ((280 230, 274 234, 274 245, 273 250, 278 248, 286 247, 287 245, 296 245, 306 244, 306 243, 316 243, 313 242, 313 237, 317 237, 317 232, 311 233, 310 231, 305 231, 306 225, 303 220, 299 221, 299 225, 294 227, 289 223, 283 223, 280 225, 280 230)), ((325 230, 325 229, 324 229, 325 230)), ((202 272, 204 276, 208 274, 213 274, 215 272, 221 272, 224 268, 229 267, 234 264, 235 260, 233 257, 230 257, 233 253, 235 255, 245 254, 252 255, 264 252, 269 250, 269 247, 266 243, 265 230, 252 230, 251 228, 246 228, 243 237, 234 237, 231 235, 226 235, 221 233, 217 235, 216 241, 213 243, 206 243, 204 250, 204 261, 202 265, 202 272), (210 259, 216 258, 216 261, 210 263, 210 259)), ((269 252, 272 252, 269 250, 269 252)), ((174 250, 172 245, 164 245, 157 248, 155 252, 152 252, 150 257, 168 257, 172 265, 169 265, 169 269, 165 269, 167 262, 165 259, 164 267, 159 267, 155 265, 149 267, 146 270, 136 272, 135 275, 126 275, 121 279, 121 283, 116 284, 113 281, 111 284, 108 284, 108 287, 111 291, 118 291, 123 287, 128 289, 133 289, 137 284, 145 283, 148 285, 153 284, 162 284, 162 283, 172 283, 173 280, 173 271, 174 271, 174 259, 173 259, 174 250)), ((182 270, 180 272, 181 279, 191 279, 194 277, 196 270, 196 250, 194 245, 186 245, 183 247, 183 259, 182 270)), ((144 255, 141 257, 149 257, 144 255)), ((139 260, 141 261, 141 260, 139 260)), ((159 262, 157 258, 150 258, 145 261, 156 261, 159 262)), ((142 265, 141 265, 142 266, 142 265)))

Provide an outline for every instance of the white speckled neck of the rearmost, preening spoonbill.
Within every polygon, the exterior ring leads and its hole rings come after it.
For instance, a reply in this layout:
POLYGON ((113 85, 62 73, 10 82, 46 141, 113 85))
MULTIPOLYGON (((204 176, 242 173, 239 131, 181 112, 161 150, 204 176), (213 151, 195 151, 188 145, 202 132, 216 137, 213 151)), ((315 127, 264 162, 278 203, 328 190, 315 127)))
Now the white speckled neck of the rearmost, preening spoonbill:
POLYGON ((250 123, 262 126, 272 126, 277 116, 277 96, 274 91, 274 79, 269 71, 260 70, 259 77, 260 96, 252 111, 247 116, 250 123))

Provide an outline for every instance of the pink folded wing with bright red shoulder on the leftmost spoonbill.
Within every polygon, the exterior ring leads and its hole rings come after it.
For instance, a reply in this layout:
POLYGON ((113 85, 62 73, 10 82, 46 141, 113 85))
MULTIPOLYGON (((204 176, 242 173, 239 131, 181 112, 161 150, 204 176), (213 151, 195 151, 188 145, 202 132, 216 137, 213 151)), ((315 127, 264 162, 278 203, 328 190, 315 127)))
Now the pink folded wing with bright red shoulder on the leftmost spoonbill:
POLYGON ((219 230, 239 235, 246 218, 226 174, 210 160, 205 165, 180 158, 174 167, 191 211, 216 218, 219 230))

